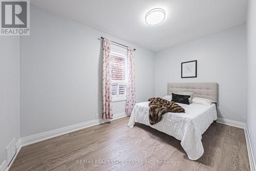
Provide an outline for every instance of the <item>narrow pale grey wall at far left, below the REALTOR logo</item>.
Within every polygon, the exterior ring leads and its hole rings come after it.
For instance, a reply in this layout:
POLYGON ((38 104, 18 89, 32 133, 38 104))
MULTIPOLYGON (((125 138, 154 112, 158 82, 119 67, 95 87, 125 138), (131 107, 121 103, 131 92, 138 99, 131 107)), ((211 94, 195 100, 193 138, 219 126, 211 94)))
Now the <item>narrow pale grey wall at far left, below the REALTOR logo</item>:
POLYGON ((0 36, 0 165, 5 148, 19 139, 19 37, 0 36))

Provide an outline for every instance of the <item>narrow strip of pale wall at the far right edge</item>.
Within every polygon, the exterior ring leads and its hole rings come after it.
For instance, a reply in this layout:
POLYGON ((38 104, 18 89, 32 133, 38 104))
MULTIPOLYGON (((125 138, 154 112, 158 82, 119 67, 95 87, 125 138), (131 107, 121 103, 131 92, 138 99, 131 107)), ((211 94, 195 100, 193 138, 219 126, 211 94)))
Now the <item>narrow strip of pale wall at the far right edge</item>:
POLYGON ((247 105, 246 105, 246 125, 249 130, 251 146, 256 159, 256 2, 249 0, 247 12, 247 105))

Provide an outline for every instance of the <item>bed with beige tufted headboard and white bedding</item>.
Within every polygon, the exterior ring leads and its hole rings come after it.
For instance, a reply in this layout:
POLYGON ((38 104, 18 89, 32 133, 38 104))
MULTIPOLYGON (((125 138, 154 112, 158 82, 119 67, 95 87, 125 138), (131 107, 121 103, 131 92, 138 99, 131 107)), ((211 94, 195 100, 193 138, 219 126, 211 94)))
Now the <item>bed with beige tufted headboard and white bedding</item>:
POLYGON ((185 109, 185 113, 166 113, 162 120, 154 125, 151 125, 148 119, 149 102, 136 103, 128 126, 133 127, 135 122, 139 122, 173 136, 181 141, 188 158, 197 160, 204 153, 202 134, 213 121, 217 120, 218 84, 216 82, 168 83, 167 95, 176 92, 194 92, 193 97, 211 99, 216 103, 211 105, 178 103, 185 109))

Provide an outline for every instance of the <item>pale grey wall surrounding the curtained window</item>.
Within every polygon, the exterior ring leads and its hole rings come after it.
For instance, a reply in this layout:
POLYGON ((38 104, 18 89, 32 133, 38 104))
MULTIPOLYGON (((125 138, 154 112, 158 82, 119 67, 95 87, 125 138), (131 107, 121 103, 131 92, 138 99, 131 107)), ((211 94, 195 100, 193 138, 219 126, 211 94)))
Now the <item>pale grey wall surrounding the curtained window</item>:
POLYGON ((102 116, 101 36, 137 49, 136 101, 155 95, 152 51, 35 6, 30 16, 31 35, 20 38, 21 137, 102 116))

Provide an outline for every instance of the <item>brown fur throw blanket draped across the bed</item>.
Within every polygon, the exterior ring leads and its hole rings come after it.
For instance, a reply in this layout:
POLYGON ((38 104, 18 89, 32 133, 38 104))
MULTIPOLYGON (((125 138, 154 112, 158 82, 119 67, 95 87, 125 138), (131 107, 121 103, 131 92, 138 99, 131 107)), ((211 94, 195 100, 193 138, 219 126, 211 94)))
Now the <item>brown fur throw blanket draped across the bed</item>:
POLYGON ((174 101, 168 101, 159 97, 150 98, 148 101, 150 101, 148 106, 150 107, 149 119, 151 125, 158 123, 162 119, 162 115, 167 112, 185 113, 185 110, 174 101))

